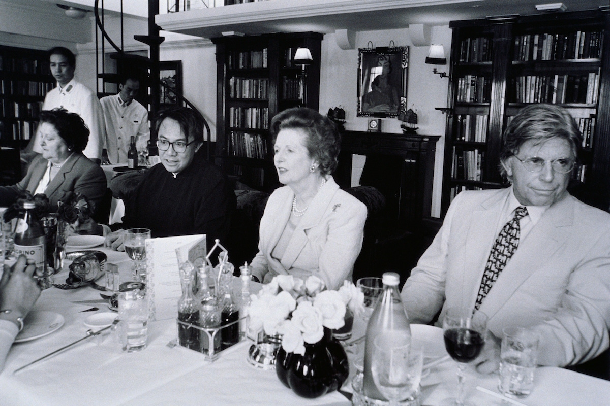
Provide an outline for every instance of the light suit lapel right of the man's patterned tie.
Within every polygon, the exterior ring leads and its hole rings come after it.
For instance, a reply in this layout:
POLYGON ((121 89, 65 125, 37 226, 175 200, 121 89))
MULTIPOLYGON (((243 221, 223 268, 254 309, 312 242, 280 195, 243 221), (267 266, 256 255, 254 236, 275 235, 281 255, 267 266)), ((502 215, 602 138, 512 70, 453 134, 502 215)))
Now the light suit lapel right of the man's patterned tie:
POLYGON ((529 234, 519 242, 517 251, 511 257, 497 281, 481 304, 481 311, 490 319, 511 298, 515 290, 526 282, 534 271, 544 267, 554 254, 570 238, 573 225, 574 201, 566 195, 554 203, 540 217, 529 234))

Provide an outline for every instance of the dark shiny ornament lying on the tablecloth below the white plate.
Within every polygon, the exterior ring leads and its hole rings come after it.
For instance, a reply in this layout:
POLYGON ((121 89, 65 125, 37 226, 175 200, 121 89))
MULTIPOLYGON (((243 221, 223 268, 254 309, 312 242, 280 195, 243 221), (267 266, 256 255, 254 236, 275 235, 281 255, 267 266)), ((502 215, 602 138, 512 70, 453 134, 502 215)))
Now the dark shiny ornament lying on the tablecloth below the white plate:
POLYGON ((66 284, 56 284, 60 289, 76 289, 84 285, 91 285, 98 290, 106 290, 95 283, 104 275, 104 265, 108 257, 102 251, 77 251, 66 254, 66 258, 73 259, 70 264, 70 273, 66 284))

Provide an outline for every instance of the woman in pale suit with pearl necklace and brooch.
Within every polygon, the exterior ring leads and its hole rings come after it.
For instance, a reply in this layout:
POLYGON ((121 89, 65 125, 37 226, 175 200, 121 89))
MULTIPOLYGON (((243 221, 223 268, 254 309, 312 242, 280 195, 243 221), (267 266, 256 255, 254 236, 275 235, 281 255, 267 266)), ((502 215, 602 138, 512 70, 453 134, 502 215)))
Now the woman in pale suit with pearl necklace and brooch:
POLYGON ((253 276, 270 282, 278 274, 321 278, 328 289, 351 281, 362 248, 367 208, 339 189, 336 125, 310 108, 273 117, 273 163, 285 186, 271 194, 260 220, 253 276))

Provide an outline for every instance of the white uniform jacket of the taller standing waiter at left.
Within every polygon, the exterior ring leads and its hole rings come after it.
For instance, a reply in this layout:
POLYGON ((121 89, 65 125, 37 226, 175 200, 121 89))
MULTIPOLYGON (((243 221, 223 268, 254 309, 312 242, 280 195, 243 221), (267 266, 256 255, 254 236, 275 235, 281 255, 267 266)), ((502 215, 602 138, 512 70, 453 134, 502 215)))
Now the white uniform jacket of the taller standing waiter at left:
MULTIPOLYGON (((72 79, 68 84, 49 91, 45 97, 42 110, 52 110, 61 107, 70 113, 76 113, 89 128, 89 141, 82 152, 87 158, 100 159, 102 157, 102 139, 104 139, 104 113, 99 104, 98 97, 87 86, 72 79)), ((40 137, 36 135, 34 151, 42 153, 40 137)))

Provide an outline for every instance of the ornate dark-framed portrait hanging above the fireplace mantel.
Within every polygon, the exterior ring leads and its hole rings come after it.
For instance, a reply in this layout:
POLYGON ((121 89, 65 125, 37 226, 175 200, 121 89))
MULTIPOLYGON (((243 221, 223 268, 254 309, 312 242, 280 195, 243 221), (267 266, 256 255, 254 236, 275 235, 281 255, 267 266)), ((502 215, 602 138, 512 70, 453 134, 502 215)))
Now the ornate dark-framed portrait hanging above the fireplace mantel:
POLYGON ((407 108, 409 47, 358 49, 357 116, 398 117, 407 108))

